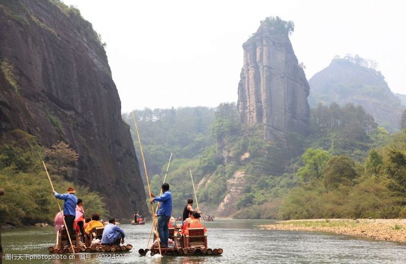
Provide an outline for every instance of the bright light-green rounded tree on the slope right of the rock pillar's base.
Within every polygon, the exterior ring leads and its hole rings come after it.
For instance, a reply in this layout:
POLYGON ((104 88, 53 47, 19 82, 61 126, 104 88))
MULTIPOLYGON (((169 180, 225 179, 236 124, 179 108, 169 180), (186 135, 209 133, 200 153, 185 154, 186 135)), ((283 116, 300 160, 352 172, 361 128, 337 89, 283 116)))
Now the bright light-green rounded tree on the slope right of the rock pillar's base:
POLYGON ((304 181, 311 177, 322 178, 324 168, 330 157, 326 150, 309 148, 301 156, 304 166, 299 168, 297 175, 304 181))

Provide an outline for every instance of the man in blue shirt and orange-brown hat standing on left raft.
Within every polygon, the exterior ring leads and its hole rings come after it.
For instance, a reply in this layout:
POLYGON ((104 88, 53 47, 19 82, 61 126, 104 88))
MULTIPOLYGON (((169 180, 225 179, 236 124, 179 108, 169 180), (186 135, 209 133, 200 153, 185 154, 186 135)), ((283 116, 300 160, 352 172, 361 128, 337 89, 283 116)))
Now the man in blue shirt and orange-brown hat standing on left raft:
MULTIPOLYGON (((65 223, 66 223, 66 230, 69 232, 69 236, 71 237, 71 240, 74 239, 75 232, 73 230, 73 224, 75 222, 75 217, 76 217, 76 205, 78 203, 78 198, 76 198, 75 193, 76 191, 74 188, 69 187, 67 188, 66 194, 60 195, 57 192, 53 192, 55 194, 55 197, 60 199, 60 200, 65 200, 63 203, 63 216, 65 218, 65 223)), ((67 242, 66 247, 70 247, 71 243, 67 242)))

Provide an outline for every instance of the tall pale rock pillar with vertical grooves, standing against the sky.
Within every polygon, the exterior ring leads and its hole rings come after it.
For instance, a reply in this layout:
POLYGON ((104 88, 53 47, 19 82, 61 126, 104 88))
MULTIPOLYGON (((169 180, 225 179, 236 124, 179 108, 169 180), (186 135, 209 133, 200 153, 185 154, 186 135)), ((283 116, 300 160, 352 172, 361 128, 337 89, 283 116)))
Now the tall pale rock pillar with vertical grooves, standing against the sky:
POLYGON ((283 137, 286 132, 306 134, 309 84, 298 65, 288 30, 284 25, 264 21, 243 48, 244 66, 238 87, 241 121, 248 125, 262 123, 268 139, 283 137))

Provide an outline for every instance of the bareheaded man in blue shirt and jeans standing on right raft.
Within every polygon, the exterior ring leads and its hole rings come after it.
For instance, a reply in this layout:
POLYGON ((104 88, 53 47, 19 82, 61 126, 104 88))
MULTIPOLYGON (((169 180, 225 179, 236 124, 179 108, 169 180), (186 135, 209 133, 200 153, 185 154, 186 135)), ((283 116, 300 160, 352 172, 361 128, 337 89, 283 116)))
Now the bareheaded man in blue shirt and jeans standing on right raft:
POLYGON ((160 202, 158 210, 158 234, 161 240, 161 247, 168 247, 169 228, 168 223, 172 214, 172 194, 169 191, 169 184, 162 184, 162 195, 156 197, 153 194, 151 196, 151 204, 153 202, 160 202))

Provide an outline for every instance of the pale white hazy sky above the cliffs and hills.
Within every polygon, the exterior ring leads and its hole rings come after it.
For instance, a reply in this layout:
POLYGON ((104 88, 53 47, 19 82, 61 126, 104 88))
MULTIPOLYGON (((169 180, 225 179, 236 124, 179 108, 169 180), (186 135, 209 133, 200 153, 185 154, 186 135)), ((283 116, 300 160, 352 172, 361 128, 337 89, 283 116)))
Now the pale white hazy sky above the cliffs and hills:
POLYGON ((406 94, 404 1, 63 1, 107 43, 122 112, 236 101, 242 44, 267 16, 295 23, 308 80, 334 55, 359 54, 406 94))

